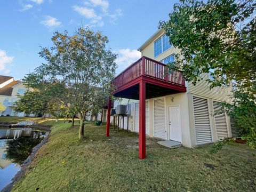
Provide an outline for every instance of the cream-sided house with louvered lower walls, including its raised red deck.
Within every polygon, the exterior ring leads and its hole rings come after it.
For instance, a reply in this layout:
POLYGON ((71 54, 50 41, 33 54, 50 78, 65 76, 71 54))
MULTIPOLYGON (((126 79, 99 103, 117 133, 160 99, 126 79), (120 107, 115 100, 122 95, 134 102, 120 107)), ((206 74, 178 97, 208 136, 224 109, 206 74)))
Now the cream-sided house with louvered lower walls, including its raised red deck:
MULTIPOLYGON (((144 129, 149 137, 177 141, 185 147, 196 147, 236 135, 227 115, 213 116, 220 110, 218 102, 231 102, 231 86, 210 90, 205 81, 208 74, 202 74, 203 80, 196 86, 185 82, 180 71, 167 74, 163 63, 173 61, 174 54, 180 50, 169 44, 169 38, 162 29, 138 50, 142 58, 115 78, 117 89, 114 96, 125 98, 115 106, 130 106, 128 125, 129 130, 140 134, 139 158, 145 158, 144 129), (140 109, 145 112, 140 113, 140 109)), ((124 124, 126 127, 127 117, 124 117, 124 124)), ((108 131, 107 124, 106 135, 108 131)))

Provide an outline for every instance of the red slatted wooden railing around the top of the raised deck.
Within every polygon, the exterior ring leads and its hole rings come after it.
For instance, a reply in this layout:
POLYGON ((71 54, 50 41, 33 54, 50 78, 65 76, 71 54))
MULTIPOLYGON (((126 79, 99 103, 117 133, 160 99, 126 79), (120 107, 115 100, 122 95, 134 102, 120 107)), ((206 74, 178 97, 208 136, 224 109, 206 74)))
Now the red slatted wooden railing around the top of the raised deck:
POLYGON ((117 88, 121 87, 140 76, 147 76, 166 83, 185 86, 185 79, 182 77, 181 71, 170 71, 165 64, 145 56, 132 63, 131 66, 119 74, 114 79, 114 85, 117 88))

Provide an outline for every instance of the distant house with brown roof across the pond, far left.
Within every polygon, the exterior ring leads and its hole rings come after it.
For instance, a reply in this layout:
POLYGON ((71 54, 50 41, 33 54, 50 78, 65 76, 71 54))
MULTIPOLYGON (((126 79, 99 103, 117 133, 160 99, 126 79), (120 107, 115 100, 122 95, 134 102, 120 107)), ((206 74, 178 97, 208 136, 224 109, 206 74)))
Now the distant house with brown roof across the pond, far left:
POLYGON ((0 102, 5 106, 3 116, 25 116, 13 109, 13 102, 18 100, 18 95, 26 92, 27 88, 21 81, 15 81, 14 77, 0 75, 0 102))

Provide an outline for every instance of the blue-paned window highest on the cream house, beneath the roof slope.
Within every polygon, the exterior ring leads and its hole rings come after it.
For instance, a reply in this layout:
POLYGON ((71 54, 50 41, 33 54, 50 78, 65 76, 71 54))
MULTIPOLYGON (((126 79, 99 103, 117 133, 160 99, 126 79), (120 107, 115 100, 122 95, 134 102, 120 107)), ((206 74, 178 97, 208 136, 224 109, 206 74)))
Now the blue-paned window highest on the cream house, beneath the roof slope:
POLYGON ((154 42, 154 57, 157 57, 170 47, 172 47, 172 45, 169 43, 169 37, 164 34, 154 42))

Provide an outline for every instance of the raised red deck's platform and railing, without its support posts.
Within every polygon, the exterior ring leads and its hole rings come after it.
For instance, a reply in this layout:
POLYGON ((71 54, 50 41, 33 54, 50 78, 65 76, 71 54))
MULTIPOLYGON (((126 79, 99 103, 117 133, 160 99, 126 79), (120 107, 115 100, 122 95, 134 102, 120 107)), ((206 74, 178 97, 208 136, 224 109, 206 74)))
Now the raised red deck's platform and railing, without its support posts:
POLYGON ((161 62, 142 57, 119 74, 114 85, 115 97, 139 99, 139 82, 146 83, 146 99, 186 92, 185 79, 181 71, 168 71, 161 62))

